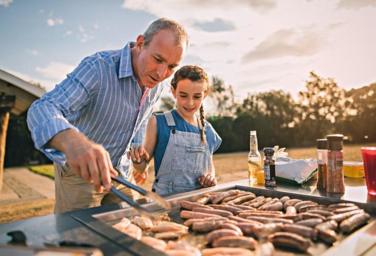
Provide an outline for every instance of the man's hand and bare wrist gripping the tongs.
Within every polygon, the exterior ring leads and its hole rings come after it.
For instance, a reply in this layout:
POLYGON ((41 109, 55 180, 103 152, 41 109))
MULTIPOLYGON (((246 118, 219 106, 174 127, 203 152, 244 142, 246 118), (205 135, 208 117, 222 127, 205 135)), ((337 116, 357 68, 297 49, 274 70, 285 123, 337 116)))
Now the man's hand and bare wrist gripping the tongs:
POLYGON ((116 176, 117 171, 102 145, 73 129, 59 132, 50 140, 49 145, 63 152, 69 166, 78 176, 93 183, 96 192, 102 192, 102 186, 110 191, 111 175, 116 176))

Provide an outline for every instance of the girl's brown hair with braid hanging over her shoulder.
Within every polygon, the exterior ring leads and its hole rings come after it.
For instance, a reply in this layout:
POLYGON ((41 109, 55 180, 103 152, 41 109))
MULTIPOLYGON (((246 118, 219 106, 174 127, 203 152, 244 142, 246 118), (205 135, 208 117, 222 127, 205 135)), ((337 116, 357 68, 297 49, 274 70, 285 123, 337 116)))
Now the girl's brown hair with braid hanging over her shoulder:
MULTIPOLYGON (((174 78, 171 81, 171 85, 176 90, 178 82, 184 79, 189 79, 192 82, 201 82, 203 83, 204 92, 210 91, 210 81, 208 74, 199 66, 183 66, 177 70, 174 74, 174 78)), ((206 136, 204 133, 205 128, 205 113, 203 111, 203 106, 200 106, 200 122, 201 122, 201 142, 202 144, 206 143, 206 136)))

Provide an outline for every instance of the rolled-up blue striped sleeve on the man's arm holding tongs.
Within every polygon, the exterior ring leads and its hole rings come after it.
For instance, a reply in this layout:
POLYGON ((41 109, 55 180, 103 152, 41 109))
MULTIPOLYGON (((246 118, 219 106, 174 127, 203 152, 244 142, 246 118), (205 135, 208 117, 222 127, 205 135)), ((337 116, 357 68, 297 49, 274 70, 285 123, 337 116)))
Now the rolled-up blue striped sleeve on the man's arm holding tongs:
POLYGON ((61 165, 65 155, 47 145, 57 133, 66 129, 78 129, 69 123, 68 117, 85 106, 98 84, 97 72, 88 61, 80 65, 52 91, 36 100, 27 112, 27 126, 36 149, 61 165))

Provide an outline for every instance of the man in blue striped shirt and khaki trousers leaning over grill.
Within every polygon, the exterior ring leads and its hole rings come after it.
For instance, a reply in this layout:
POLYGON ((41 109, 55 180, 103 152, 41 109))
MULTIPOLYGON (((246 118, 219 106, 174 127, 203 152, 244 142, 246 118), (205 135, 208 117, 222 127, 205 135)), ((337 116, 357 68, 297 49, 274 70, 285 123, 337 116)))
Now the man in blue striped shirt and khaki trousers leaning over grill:
POLYGON ((173 74, 187 47, 182 25, 158 19, 124 49, 83 59, 30 106, 27 124, 35 146, 54 161, 55 212, 119 202, 109 192, 111 185, 139 198, 111 182, 111 175, 119 171, 134 182, 126 152, 142 145, 161 82, 173 74))

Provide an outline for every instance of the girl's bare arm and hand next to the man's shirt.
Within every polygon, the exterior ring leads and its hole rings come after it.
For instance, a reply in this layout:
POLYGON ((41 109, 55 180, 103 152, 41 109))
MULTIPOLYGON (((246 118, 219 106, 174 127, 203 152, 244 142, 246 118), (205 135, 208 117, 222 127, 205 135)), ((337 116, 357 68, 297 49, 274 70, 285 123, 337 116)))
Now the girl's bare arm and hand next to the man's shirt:
POLYGON ((132 167, 137 172, 145 172, 154 155, 155 144, 157 143, 157 118, 152 116, 146 126, 144 145, 135 147, 127 153, 132 158, 132 167), (146 161, 143 161, 144 158, 146 161), (136 163, 135 163, 136 162, 136 163), (141 162, 141 163, 140 163, 141 162))

